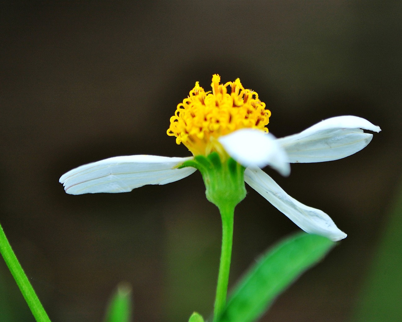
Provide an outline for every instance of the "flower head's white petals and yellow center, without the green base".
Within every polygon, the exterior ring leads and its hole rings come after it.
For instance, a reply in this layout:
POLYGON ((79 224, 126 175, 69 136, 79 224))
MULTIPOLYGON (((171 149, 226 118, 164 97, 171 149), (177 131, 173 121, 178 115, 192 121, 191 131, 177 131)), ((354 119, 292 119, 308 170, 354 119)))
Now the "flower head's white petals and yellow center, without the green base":
POLYGON ((334 241, 345 238, 326 213, 289 196, 261 168, 269 165, 289 175, 289 163, 342 159, 369 144, 373 134, 364 130, 381 129, 357 116, 338 116, 298 134, 275 138, 267 128, 271 112, 256 92, 244 89, 239 79, 220 84, 217 74, 211 87, 211 92, 205 92, 195 83, 170 118, 167 134, 175 136, 177 144, 183 143, 193 157, 132 155, 89 163, 61 176, 66 192, 129 192, 146 184, 168 184, 195 172, 192 160, 217 153, 222 161, 233 158, 244 167, 244 182, 304 231, 334 241))

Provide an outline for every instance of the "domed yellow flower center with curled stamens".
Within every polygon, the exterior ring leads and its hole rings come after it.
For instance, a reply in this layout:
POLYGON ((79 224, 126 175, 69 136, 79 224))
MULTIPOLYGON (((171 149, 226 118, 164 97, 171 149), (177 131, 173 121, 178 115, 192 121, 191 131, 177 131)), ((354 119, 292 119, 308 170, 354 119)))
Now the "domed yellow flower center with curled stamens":
POLYGON ((239 78, 226 84, 219 84, 220 79, 217 74, 212 76, 212 93, 196 82, 170 118, 167 134, 176 136, 176 143, 183 143, 193 155, 221 152, 217 138, 241 128, 268 132, 265 126, 271 111, 265 109, 258 94, 244 89, 239 78))

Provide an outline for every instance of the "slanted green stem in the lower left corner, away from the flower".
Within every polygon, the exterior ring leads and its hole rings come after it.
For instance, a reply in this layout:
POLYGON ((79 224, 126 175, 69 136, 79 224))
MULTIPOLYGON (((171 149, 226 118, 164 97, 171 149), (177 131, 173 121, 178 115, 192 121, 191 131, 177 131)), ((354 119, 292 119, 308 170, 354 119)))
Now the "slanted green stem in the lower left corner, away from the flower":
POLYGON ((37 322, 50 322, 21 264, 18 262, 0 225, 0 252, 37 322))

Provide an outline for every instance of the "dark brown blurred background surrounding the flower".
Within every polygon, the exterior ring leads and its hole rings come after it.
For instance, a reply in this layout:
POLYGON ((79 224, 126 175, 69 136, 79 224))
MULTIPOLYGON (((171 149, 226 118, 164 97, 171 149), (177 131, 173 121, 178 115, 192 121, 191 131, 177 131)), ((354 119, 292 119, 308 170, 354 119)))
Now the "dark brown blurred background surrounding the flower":
MULTIPOLYGON (((289 178, 265 169, 348 237, 261 321, 348 320, 400 180, 402 2, 5 1, 0 11, 0 222, 52 321, 100 321, 121 281, 135 321, 209 316, 221 227, 199 173, 82 196, 58 179, 117 155, 190 155, 166 135, 169 118, 213 73, 257 91, 277 137, 339 115, 381 126, 346 159, 295 164, 289 178)), ((247 190, 230 285, 298 230, 247 190)), ((7 321, 33 321, 2 261, 0 282, 7 321)))

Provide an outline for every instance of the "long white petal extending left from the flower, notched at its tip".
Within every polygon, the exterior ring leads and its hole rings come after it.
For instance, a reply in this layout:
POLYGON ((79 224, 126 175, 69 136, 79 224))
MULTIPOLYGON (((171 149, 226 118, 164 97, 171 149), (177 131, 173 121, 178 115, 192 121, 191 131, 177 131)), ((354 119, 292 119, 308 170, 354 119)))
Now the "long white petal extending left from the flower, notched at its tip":
POLYGON ((129 192, 146 184, 168 184, 183 179, 196 169, 177 169, 187 158, 156 155, 113 157, 81 165, 60 177, 68 194, 129 192))

